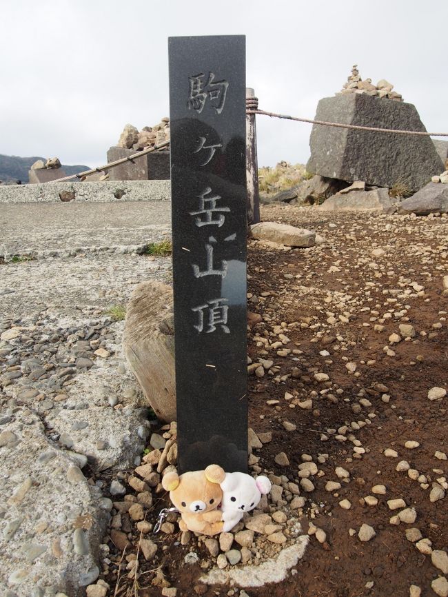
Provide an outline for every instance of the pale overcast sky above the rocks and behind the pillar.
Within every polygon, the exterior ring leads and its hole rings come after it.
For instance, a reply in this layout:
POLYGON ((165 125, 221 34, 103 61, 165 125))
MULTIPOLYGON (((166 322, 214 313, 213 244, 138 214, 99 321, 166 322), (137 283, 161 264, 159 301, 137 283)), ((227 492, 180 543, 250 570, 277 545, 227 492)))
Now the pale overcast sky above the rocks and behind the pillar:
MULTIPOLYGON (((358 63, 448 132, 447 0, 1 0, 0 154, 101 165, 169 115, 167 38, 245 34, 260 108, 313 118, 358 63)), ((258 163, 305 163, 311 125, 258 116, 258 163)))

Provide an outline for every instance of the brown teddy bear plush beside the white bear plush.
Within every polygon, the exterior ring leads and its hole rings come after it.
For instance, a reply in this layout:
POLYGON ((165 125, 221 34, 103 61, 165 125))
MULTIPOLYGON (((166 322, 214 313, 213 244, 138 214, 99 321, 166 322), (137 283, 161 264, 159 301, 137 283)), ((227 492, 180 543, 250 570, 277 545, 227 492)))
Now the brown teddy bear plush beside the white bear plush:
POLYGON ((218 465, 181 476, 175 472, 163 476, 163 489, 170 492, 172 503, 181 512, 181 531, 189 530, 209 536, 221 533, 222 513, 217 508, 223 497, 219 484, 224 478, 224 469, 218 465))

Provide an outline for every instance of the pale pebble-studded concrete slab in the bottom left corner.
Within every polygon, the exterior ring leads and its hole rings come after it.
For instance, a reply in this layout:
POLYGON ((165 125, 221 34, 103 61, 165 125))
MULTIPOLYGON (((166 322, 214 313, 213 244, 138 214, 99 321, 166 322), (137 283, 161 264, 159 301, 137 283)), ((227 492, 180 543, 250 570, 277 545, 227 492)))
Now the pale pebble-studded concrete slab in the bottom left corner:
POLYGON ((53 594, 55 586, 72 594, 73 587, 90 585, 99 575, 96 557, 107 523, 101 492, 63 449, 50 444, 38 416, 28 411, 24 430, 20 414, 6 429, 19 444, 1 448, 0 503, 9 505, 1 520, 0 594, 8 594, 4 579, 17 580, 21 569, 27 574, 17 596, 53 594), (41 458, 50 450, 51 458, 41 458), (74 529, 81 514, 90 525, 74 529), (37 535, 39 528, 44 534, 37 535))

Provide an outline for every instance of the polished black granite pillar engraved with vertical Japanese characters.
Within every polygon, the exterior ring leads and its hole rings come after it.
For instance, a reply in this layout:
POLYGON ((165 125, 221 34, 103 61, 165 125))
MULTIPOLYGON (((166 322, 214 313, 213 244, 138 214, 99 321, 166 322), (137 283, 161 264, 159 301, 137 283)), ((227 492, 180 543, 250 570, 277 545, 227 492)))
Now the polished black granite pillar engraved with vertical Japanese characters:
POLYGON ((179 470, 247 472, 245 37, 172 37, 179 470))

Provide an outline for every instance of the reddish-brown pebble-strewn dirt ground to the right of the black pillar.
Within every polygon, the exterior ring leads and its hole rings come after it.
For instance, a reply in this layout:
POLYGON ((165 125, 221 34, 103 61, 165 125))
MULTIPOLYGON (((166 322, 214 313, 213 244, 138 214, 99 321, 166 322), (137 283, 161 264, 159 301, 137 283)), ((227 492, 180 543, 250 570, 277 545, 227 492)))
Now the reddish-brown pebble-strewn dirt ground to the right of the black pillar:
MULTIPOLYGON (((255 452, 261 458, 258 465, 296 480, 301 454, 310 454, 314 462, 319 454, 329 454, 326 463, 318 465, 324 475, 313 478, 314 492, 301 492, 307 498, 302 517, 305 531, 313 515, 313 522, 325 530, 327 542, 320 545, 311 538, 295 576, 287 576, 278 585, 245 591, 250 597, 405 597, 414 584, 422 588, 423 596, 430 596, 434 594, 431 580, 442 573, 431 565, 431 556, 420 554, 407 540, 405 529, 417 527, 431 540, 433 549, 448 549, 448 498, 429 501, 431 483, 448 472, 447 461, 434 457, 436 450, 448 452, 448 398, 427 398, 431 387, 447 387, 448 382, 448 297, 442 287, 442 276, 448 274, 448 219, 328 214, 316 208, 283 205, 263 208, 262 219, 311 228, 327 239, 319 247, 289 252, 250 241, 248 255, 249 309, 265 319, 264 325, 254 325, 248 336, 250 357, 252 361, 272 358, 274 366, 281 367, 278 376, 290 374, 293 367, 299 370, 298 376, 285 381, 275 381, 269 374, 249 377, 250 426, 256 432, 272 432, 272 442, 255 452), (385 254, 372 256, 374 247, 383 248, 385 254), (332 265, 338 271, 329 272, 332 265), (416 291, 412 283, 424 290, 416 291), (263 292, 269 295, 263 297, 263 292), (362 311, 367 307, 378 315, 362 311), (337 323, 327 323, 327 312, 334 314, 337 323), (344 312, 349 314, 346 323, 338 319, 344 312), (374 325, 385 312, 391 317, 383 321, 384 330, 378 332, 374 325), (275 350, 261 352, 263 345, 257 345, 256 334, 272 332, 282 322, 287 324, 285 334, 290 340, 286 347, 301 350, 301 354, 291 352, 283 357, 275 350), (411 323, 416 337, 391 346, 396 354, 387 356, 383 349, 389 345, 389 335, 399 333, 400 323, 411 323), (320 356, 322 350, 329 356, 320 356), (356 363, 359 376, 347 371, 347 361, 356 363), (367 365, 367 361, 374 363, 367 365), (329 381, 316 382, 314 372, 326 373, 329 381), (387 390, 378 389, 376 384, 387 386, 387 390), (338 395, 336 389, 343 392, 338 395), (361 390, 370 407, 359 405, 361 390), (312 409, 292 408, 285 401, 285 392, 301 401, 311 395, 312 409), (337 396, 337 403, 327 394, 337 396), (381 400, 382 394, 389 394, 389 403, 381 400), (267 405, 272 399, 278 400, 278 405, 267 405), (295 432, 285 431, 282 422, 286 419, 297 425, 295 432), (327 441, 321 441, 321 432, 327 429, 366 420, 371 424, 354 431, 366 450, 359 458, 353 457, 352 443, 338 441, 334 432, 327 433, 327 441), (418 441, 420 447, 406 449, 407 440, 418 441), (388 447, 396 449, 398 458, 383 455, 388 447), (287 469, 274 462, 278 452, 288 455, 291 464, 287 469), (406 472, 396 472, 401 460, 427 476, 427 489, 406 472), (325 483, 338 480, 334 473, 338 466, 349 471, 350 481, 332 494, 325 491, 325 483), (434 469, 442 469, 443 474, 434 469), (387 487, 386 495, 377 496, 378 505, 360 503, 377 484, 387 487), (338 505, 344 498, 352 503, 351 509, 338 505), (396 514, 387 507, 391 498, 403 498, 408 507, 416 508, 414 524, 389 523, 396 514), (368 543, 362 543, 357 535, 349 536, 349 529, 358 532, 363 523, 376 530, 368 543), (374 582, 371 588, 366 587, 369 581, 374 582)), ((147 519, 152 522, 153 518, 154 513, 150 513, 147 519)), ((157 561, 165 578, 177 587, 177 596, 183 597, 195 594, 193 587, 201 569, 198 565, 185 566, 188 548, 176 545, 179 536, 158 536, 157 543, 166 547, 164 552, 159 549, 162 556, 157 556, 157 561)), ((114 556, 114 546, 110 545, 110 559, 116 561, 119 556, 114 556)), ((205 558, 205 548, 201 549, 205 558)), ((141 577, 140 597, 161 594, 160 587, 151 585, 153 577, 154 571, 146 580, 141 577)), ((114 586, 116 576, 105 578, 114 586)), ((230 589, 228 585, 208 587, 205 595, 225 596, 230 589)), ((120 590, 120 594, 125 591, 120 590)))

